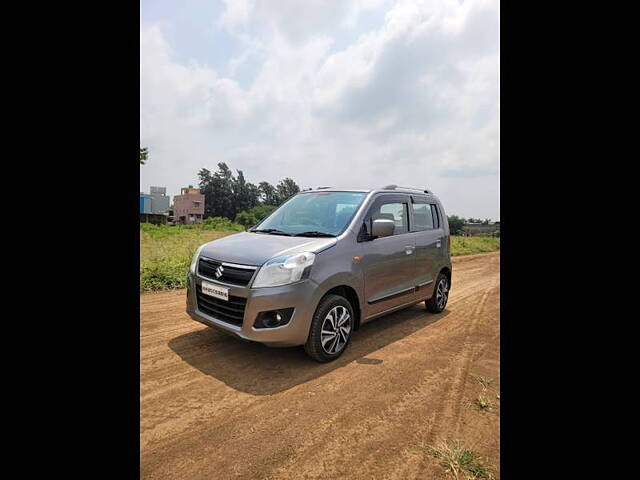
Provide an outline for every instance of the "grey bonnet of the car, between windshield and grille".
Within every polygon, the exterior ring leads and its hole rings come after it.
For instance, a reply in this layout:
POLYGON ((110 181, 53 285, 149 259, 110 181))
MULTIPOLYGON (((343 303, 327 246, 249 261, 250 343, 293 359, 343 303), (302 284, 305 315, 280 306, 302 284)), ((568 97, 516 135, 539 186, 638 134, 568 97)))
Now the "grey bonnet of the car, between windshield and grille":
POLYGON ((335 238, 287 237, 267 233, 241 232, 206 243, 200 252, 205 257, 241 265, 262 265, 279 255, 313 252, 335 245, 335 238))

